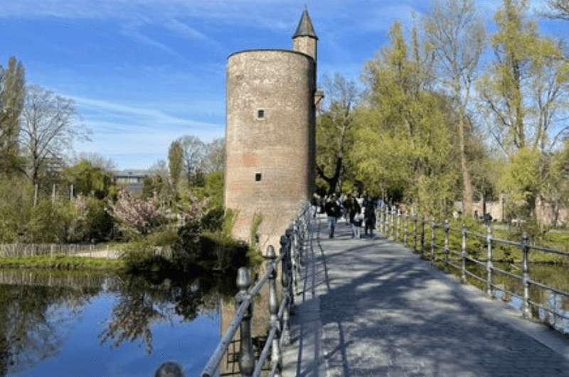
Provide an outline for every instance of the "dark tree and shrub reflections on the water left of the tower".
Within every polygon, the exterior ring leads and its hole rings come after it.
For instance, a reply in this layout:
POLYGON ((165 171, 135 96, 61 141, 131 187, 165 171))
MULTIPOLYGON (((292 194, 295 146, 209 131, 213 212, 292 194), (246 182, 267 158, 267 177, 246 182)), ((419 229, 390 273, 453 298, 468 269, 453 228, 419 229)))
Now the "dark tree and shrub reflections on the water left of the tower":
MULTIPOLYGON (((69 286, 6 284, 0 281, 0 376, 31 368, 57 356, 65 341, 65 329, 101 292, 115 296, 100 344, 119 347, 140 341, 152 352, 152 326, 191 322, 213 313, 220 299, 236 292, 235 275, 194 277, 144 277, 120 275, 82 286, 77 276, 69 286)), ((23 273, 23 272, 18 272, 23 273)), ((26 272, 30 274, 32 272, 26 272)), ((36 273, 36 272, 33 272, 36 273)), ((77 274, 75 274, 77 275, 77 274)))

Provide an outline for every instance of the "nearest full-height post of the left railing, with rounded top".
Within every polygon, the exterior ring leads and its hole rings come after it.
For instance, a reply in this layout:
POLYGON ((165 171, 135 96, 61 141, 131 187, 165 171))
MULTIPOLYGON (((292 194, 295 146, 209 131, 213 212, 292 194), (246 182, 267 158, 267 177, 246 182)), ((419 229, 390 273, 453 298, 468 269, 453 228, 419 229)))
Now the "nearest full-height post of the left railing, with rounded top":
POLYGON ((245 267, 240 267, 237 272, 237 287, 239 293, 237 294, 237 306, 248 300, 249 306, 245 311, 243 320, 240 324, 240 346, 239 346, 239 370, 241 376, 249 377, 255 369, 255 357, 253 356, 253 346, 251 339, 251 319, 253 316, 253 303, 248 292, 251 285, 250 272, 245 267))

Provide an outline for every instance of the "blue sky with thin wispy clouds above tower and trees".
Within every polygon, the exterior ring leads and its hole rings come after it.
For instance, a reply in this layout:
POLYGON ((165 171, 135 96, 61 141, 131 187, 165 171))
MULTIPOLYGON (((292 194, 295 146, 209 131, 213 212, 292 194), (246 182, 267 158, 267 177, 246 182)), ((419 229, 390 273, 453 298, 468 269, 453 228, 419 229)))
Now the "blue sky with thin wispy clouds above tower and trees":
MULTIPOLYGON (((475 1, 491 28, 501 1, 475 1)), ((409 28, 426 0, 0 0, 0 62, 16 55, 28 83, 73 98, 97 152, 149 167, 183 134, 223 136, 225 62, 248 48, 290 48, 307 4, 319 76, 358 79, 395 20, 409 28)), ((541 1, 533 0, 534 8, 541 1)), ((569 23, 540 21, 569 35, 569 23)))

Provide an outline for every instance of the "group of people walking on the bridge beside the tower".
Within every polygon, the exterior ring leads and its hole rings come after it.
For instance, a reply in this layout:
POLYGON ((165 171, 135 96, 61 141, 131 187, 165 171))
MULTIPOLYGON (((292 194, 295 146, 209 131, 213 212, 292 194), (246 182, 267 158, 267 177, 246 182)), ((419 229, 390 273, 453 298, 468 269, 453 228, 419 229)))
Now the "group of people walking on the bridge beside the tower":
POLYGON ((326 213, 328 218, 329 238, 334 238, 336 222, 344 218, 346 224, 351 224, 351 237, 361 238, 361 228, 364 228, 365 237, 373 237, 376 228, 377 201, 368 195, 335 194, 321 198, 314 194, 312 198, 313 216, 317 213, 326 213))

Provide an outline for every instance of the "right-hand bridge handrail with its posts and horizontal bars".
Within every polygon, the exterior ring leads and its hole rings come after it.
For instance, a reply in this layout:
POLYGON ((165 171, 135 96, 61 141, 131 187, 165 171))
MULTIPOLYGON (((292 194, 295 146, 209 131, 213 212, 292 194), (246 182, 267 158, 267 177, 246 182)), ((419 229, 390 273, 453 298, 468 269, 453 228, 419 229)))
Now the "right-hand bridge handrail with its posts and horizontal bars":
MULTIPOLYGON (((438 251, 442 250, 443 257, 442 259, 440 259, 440 261, 442 261, 447 266, 459 268, 459 270, 461 271, 461 281, 463 283, 467 282, 467 276, 472 276, 475 277, 477 280, 486 282, 486 294, 488 294, 489 297, 493 297, 492 290, 494 289, 495 285, 493 283, 492 277, 494 272, 499 272, 503 275, 507 275, 509 277, 521 281, 523 285, 523 294, 520 294, 520 297, 523 300, 523 309, 522 309, 523 317, 531 319, 532 317, 531 307, 546 309, 542 305, 536 304, 535 302, 531 301, 529 297, 530 285, 532 285, 533 287, 537 287, 538 289, 541 290, 547 290, 550 292, 554 292, 555 294, 560 294, 563 297, 569 297, 569 292, 565 292, 564 290, 559 290, 555 287, 552 287, 551 285, 547 285, 542 282, 536 282, 535 280, 532 280, 530 276, 530 260, 529 260, 529 254, 531 252, 550 253, 550 254, 560 255, 562 257, 569 257, 569 253, 561 250, 555 250, 553 248, 546 248, 538 245, 530 245, 528 242, 528 235, 526 233, 523 233, 521 242, 515 242, 511 240, 503 240, 501 238, 495 238, 492 235, 492 230, 490 226, 486 227, 486 235, 483 235, 481 233, 467 230, 464 224, 462 225, 461 229, 453 228, 450 226, 450 221, 448 219, 445 219, 444 223, 436 223, 434 218, 431 221, 425 221, 424 217, 410 216, 408 213, 402 213, 398 208, 395 208, 395 206, 383 206, 383 208, 378 209, 378 212, 379 216, 377 216, 377 218, 379 218, 380 220, 378 229, 386 237, 393 239, 395 241, 400 241, 405 246, 407 246, 408 233, 412 232, 410 233, 410 235, 413 238, 413 251, 418 251, 422 257, 430 259, 431 262, 435 262, 435 253, 437 252, 437 250, 438 251), (405 227, 403 229, 403 238, 400 237, 402 230, 400 230, 399 226, 400 223, 402 223, 401 222, 402 216, 405 219, 405 221, 403 221, 403 226, 405 227), (409 217, 413 218, 412 222, 408 221, 409 217), (418 227, 419 220, 421 224, 420 227, 418 227), (409 229, 408 226, 409 223, 414 224, 411 229, 409 229), (426 242, 427 238, 425 237, 426 236, 425 223, 427 223, 427 227, 430 228, 430 242, 426 242), (443 245, 441 245, 440 242, 437 242, 436 234, 440 235, 440 230, 443 231, 444 235, 443 245), (453 252, 450 249, 449 234, 451 230, 454 232, 459 231, 461 234, 462 247, 460 253, 453 252), (472 257, 472 255, 469 255, 467 253, 467 237, 469 236, 486 241, 486 255, 485 255, 486 259, 484 261, 477 260, 474 257, 472 257), (417 240, 419 237, 421 242, 420 242, 420 248, 418 249, 417 240), (428 243, 428 245, 426 245, 426 243, 428 243), (514 248, 519 248, 522 254, 522 267, 523 267, 523 271, 521 272, 520 275, 494 267, 492 256, 494 253, 494 246, 498 244, 509 245, 514 248), (450 254, 459 255, 459 257, 462 260, 462 265, 458 266, 450 262, 449 258, 450 254), (475 276, 472 272, 469 272, 466 268, 467 261, 474 262, 477 265, 485 267, 486 278, 484 279, 484 277, 475 276)), ((507 290, 505 291, 509 292, 507 290)), ((559 317, 564 317, 566 315, 560 312, 556 312, 555 311, 556 308, 554 309, 550 308, 546 310, 559 317)))

